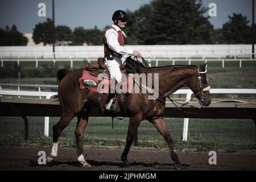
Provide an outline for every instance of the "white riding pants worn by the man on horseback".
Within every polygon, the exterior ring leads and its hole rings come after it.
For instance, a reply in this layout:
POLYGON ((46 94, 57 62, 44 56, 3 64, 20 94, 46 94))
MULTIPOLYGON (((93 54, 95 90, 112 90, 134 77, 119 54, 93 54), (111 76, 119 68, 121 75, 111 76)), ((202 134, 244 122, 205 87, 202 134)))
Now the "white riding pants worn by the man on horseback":
POLYGON ((106 60, 105 65, 109 70, 111 80, 115 78, 118 83, 122 81, 122 73, 119 66, 122 65, 121 57, 114 57, 113 60, 106 60))

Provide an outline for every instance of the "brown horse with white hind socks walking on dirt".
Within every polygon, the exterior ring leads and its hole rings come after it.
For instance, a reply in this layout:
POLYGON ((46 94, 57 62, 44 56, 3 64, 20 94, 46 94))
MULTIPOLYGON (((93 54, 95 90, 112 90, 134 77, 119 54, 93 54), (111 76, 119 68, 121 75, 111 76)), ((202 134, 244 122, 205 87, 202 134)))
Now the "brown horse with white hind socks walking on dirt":
MULTIPOLYGON (((163 119, 166 97, 169 97, 176 90, 187 86, 195 94, 201 105, 209 106, 210 93, 207 80, 206 64, 197 65, 170 65, 165 67, 141 67, 141 71, 146 75, 148 73, 159 73, 159 96, 155 100, 148 100, 148 93, 131 93, 129 95, 129 106, 127 106, 127 117, 129 117, 129 128, 126 137, 126 146, 121 155, 121 160, 125 167, 129 166, 127 155, 134 135, 137 132, 141 121, 146 119, 155 126, 156 130, 166 140, 171 159, 175 165, 181 165, 175 151, 174 143, 163 119)), ((47 157, 47 164, 51 163, 57 157, 58 140, 61 132, 67 127, 69 122, 76 116, 77 126, 75 129, 77 160, 83 167, 90 167, 86 162, 82 148, 82 138, 84 130, 88 124, 90 111, 98 108, 98 93, 88 89, 80 89, 79 78, 84 69, 74 71, 61 71, 58 73, 59 88, 58 97, 61 106, 61 118, 59 122, 52 127, 53 144, 51 154, 47 157)), ((169 97, 170 98, 170 97, 169 97)), ((117 109, 113 114, 122 113, 121 107, 117 104, 117 109)))

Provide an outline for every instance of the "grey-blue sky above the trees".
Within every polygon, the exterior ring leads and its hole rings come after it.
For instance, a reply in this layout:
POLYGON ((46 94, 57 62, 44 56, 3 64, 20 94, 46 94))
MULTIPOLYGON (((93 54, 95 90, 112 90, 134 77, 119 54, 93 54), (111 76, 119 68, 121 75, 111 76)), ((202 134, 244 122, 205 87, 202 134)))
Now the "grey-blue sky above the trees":
MULTIPOLYGON (((55 25, 72 28, 100 28, 112 24, 115 10, 137 10, 152 0, 55 0, 55 25)), ((181 0, 182 1, 182 0, 181 0)), ((241 13, 250 20, 253 0, 202 0, 203 5, 216 3, 217 16, 209 18, 214 28, 228 22, 228 15, 241 13)), ((256 3, 256 2, 255 2, 256 3)), ((256 5, 254 5, 256 6, 256 5)), ((256 14, 256 13, 255 13, 256 14)), ((208 15, 208 12, 204 14, 208 15)), ((52 18, 52 0, 0 0, 0 27, 16 25, 18 31, 32 33, 35 24, 52 18), (38 16, 38 4, 46 4, 46 17, 38 16)), ((255 16, 256 18, 256 16, 255 16)), ((256 21, 256 20, 255 20, 256 21)))

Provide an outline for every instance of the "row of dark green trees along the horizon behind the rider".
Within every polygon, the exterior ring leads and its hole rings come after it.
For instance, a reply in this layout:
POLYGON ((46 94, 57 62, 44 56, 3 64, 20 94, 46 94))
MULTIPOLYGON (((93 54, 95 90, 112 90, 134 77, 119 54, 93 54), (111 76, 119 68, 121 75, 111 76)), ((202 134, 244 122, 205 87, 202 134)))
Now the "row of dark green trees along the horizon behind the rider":
MULTIPOLYGON (((126 10, 129 20, 125 28, 128 44, 251 44, 252 27, 246 16, 233 14, 222 28, 214 29, 209 22, 208 11, 201 0, 155 0, 138 10, 126 10)), ((111 17, 110 17, 111 18, 111 17)), ((68 26, 54 28, 56 45, 102 45, 105 31, 68 26)), ((1 45, 6 40, 2 40, 1 45)), ((17 34, 18 35, 18 34, 17 34)), ((52 44, 53 23, 51 19, 35 25, 32 39, 36 44, 52 44)), ((23 42, 24 44, 25 42, 23 42)))

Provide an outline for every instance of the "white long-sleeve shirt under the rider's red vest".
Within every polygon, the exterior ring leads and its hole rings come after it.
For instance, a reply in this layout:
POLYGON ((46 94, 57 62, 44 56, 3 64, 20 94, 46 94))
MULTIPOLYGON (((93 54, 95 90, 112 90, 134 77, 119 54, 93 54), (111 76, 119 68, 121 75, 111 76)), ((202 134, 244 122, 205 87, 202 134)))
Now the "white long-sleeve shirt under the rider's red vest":
MULTIPOLYGON (((116 26, 115 24, 112 24, 112 27, 115 28, 117 31, 121 31, 122 34, 126 37, 125 32, 121 30, 120 27, 116 26)), ((112 49, 114 52, 121 53, 123 55, 133 55, 133 50, 128 49, 125 46, 120 46, 118 42, 118 32, 115 31, 113 28, 110 28, 106 31, 106 42, 110 49, 112 49)))

